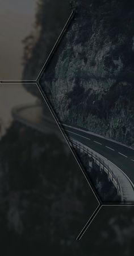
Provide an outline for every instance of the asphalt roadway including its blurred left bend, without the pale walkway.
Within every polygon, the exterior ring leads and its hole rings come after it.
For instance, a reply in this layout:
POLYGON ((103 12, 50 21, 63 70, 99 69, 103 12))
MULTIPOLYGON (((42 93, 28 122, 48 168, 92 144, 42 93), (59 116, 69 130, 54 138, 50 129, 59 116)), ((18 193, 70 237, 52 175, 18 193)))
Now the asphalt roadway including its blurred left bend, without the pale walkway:
MULTIPOLYGON (((54 119, 48 120, 48 113, 42 112, 39 105, 15 108, 12 111, 15 119, 18 119, 31 127, 40 129, 44 133, 54 132, 54 119), (49 127, 46 127, 46 119, 49 127)), ((121 169, 134 184, 134 150, 125 147, 115 141, 99 137, 93 133, 83 131, 81 129, 64 125, 64 131, 69 137, 79 141, 93 151, 105 157, 112 164, 121 169)), ((57 129, 55 131, 57 133, 57 129)), ((58 132, 59 133, 59 132, 58 132)), ((62 137, 62 136, 61 136, 62 137)), ((63 138, 64 139, 64 138, 63 138)))

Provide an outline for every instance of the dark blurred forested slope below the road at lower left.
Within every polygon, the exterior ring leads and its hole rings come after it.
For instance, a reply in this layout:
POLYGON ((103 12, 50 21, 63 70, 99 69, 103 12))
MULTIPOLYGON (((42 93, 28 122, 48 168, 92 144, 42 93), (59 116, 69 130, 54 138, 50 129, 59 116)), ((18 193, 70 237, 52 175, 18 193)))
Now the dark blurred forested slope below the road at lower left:
POLYGON ((98 205, 68 145, 14 121, 0 141, 0 177, 2 255, 68 255, 98 205))

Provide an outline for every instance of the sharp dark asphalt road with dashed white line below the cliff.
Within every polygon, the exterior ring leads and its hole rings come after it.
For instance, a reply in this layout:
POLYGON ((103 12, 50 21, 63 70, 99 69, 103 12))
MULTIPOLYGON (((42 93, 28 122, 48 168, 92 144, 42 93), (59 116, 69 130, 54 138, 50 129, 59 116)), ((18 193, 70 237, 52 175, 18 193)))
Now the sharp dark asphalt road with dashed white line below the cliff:
POLYGON ((119 144, 116 141, 105 139, 93 133, 83 131, 78 128, 73 128, 64 125, 66 134, 93 149, 112 164, 116 165, 119 169, 129 177, 134 184, 134 150, 119 144))

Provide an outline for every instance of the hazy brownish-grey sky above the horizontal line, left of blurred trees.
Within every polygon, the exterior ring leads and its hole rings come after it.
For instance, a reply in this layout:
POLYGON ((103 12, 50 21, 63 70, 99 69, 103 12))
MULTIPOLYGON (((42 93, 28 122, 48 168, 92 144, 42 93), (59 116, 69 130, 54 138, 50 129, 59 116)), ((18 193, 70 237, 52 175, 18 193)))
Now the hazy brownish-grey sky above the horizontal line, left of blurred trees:
POLYGON ((33 30, 37 0, 0 0, 0 80, 22 78, 22 40, 33 30))

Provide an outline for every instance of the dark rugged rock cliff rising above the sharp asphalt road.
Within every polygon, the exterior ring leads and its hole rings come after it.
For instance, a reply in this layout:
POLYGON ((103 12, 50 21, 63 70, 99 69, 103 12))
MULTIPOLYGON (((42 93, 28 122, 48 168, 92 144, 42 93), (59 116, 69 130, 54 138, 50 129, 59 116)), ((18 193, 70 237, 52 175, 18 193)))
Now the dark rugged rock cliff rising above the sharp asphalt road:
POLYGON ((72 6, 75 18, 41 86, 62 122, 134 147, 134 3, 72 6))

